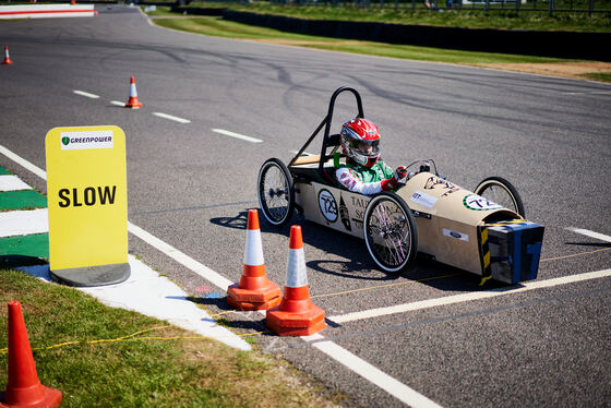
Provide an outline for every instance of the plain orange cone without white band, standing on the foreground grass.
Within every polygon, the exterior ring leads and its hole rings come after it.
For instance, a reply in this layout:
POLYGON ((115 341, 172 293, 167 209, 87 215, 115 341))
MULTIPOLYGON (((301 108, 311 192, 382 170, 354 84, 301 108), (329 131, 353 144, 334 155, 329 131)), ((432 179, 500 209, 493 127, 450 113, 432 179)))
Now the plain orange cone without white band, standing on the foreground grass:
POLYGON ((17 301, 9 303, 9 383, 0 394, 0 407, 58 407, 61 392, 40 384, 17 301))

